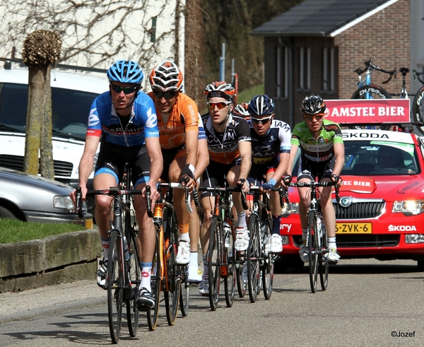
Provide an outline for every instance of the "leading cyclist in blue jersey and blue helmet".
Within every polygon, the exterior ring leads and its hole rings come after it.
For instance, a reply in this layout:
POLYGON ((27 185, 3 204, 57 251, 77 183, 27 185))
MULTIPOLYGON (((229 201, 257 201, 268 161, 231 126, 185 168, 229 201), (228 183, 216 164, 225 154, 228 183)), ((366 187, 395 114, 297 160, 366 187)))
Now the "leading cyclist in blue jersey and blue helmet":
MULTIPOLYGON (((100 143, 95 165, 94 189, 117 187, 125 163, 131 163, 134 188, 151 186, 152 204, 159 194, 156 184, 163 170, 160 151, 158 119, 153 100, 143 93, 143 70, 135 61, 118 60, 107 70, 109 91, 95 98, 88 116, 86 145, 79 164, 79 185, 86 199, 87 181, 93 170, 94 156, 100 143)), ((134 197, 139 224, 139 254, 141 254, 141 283, 137 305, 153 307, 151 295, 151 266, 155 245, 153 220, 148 218, 145 195, 134 197)), ((71 193, 75 201, 75 191, 71 193)), ((98 285, 106 288, 107 257, 110 238, 110 205, 112 197, 95 196, 95 220, 102 239, 103 259, 98 270, 98 285)))

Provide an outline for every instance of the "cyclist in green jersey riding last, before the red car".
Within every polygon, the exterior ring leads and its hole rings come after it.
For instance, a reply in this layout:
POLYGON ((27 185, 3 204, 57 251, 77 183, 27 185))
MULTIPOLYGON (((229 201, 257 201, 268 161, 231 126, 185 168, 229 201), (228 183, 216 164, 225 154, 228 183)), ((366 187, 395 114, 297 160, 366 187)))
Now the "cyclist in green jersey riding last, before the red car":
MULTIPOLYGON (((304 121, 296 124, 293 128, 290 162, 287 176, 283 182, 287 184, 291 180, 293 163, 300 148, 300 161, 298 168, 298 182, 336 181, 341 185, 340 175, 344 164, 344 145, 341 137, 341 129, 338 124, 324 119, 326 105, 319 95, 310 95, 302 101, 300 110, 304 121)), ((328 112, 328 111, 327 111, 328 112)), ((320 204, 326 233, 329 240, 329 262, 336 264, 340 259, 336 247, 336 212, 331 201, 331 187, 320 187, 320 204)), ((299 214, 302 225, 302 245, 300 245, 300 259, 308 261, 305 252, 307 237, 307 192, 309 188, 298 188, 300 203, 299 214)))

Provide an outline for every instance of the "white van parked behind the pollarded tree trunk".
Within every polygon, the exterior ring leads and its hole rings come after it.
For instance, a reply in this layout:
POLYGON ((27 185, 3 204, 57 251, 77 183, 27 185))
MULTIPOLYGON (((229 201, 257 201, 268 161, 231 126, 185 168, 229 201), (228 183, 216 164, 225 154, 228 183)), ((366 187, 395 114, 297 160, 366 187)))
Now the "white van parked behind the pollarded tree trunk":
MULTIPOLYGON (((19 64, 5 66, 9 69, 0 69, 0 166, 22 171, 28 68, 19 64)), ((105 73, 52 69, 50 84, 54 179, 76 187, 90 105, 107 91, 109 83, 105 73)), ((92 208, 88 206, 89 211, 92 208)))

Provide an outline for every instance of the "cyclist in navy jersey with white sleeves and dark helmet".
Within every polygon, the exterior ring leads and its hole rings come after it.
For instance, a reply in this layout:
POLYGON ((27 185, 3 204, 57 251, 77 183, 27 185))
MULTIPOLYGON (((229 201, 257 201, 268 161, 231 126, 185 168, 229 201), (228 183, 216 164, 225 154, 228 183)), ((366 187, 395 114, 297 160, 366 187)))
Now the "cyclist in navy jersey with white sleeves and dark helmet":
MULTIPOLYGON (((248 180, 251 184, 261 186, 265 192, 280 186, 290 158, 290 126, 273 119, 274 108, 274 102, 268 95, 254 96, 247 108, 252 139, 252 167, 248 180)), ((281 207, 278 192, 270 192, 269 207, 273 229, 266 248, 269 248, 269 252, 280 253, 283 251, 283 243, 280 236, 281 207)))

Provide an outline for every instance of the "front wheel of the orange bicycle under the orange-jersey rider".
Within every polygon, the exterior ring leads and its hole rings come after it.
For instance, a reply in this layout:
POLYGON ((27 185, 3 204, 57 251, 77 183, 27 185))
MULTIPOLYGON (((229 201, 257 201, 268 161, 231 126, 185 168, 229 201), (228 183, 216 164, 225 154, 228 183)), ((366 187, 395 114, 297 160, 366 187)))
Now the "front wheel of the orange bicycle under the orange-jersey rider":
MULTIPOLYGON (((155 225, 155 229, 157 228, 158 226, 155 225)), ((147 325, 150 331, 155 330, 156 325, 158 324, 161 281, 160 273, 162 271, 160 267, 160 252, 162 252, 162 247, 159 243, 158 230, 156 230, 155 252, 153 254, 153 264, 151 273, 151 293, 153 295, 153 298, 155 298, 155 305, 150 310, 147 310, 147 325)))

